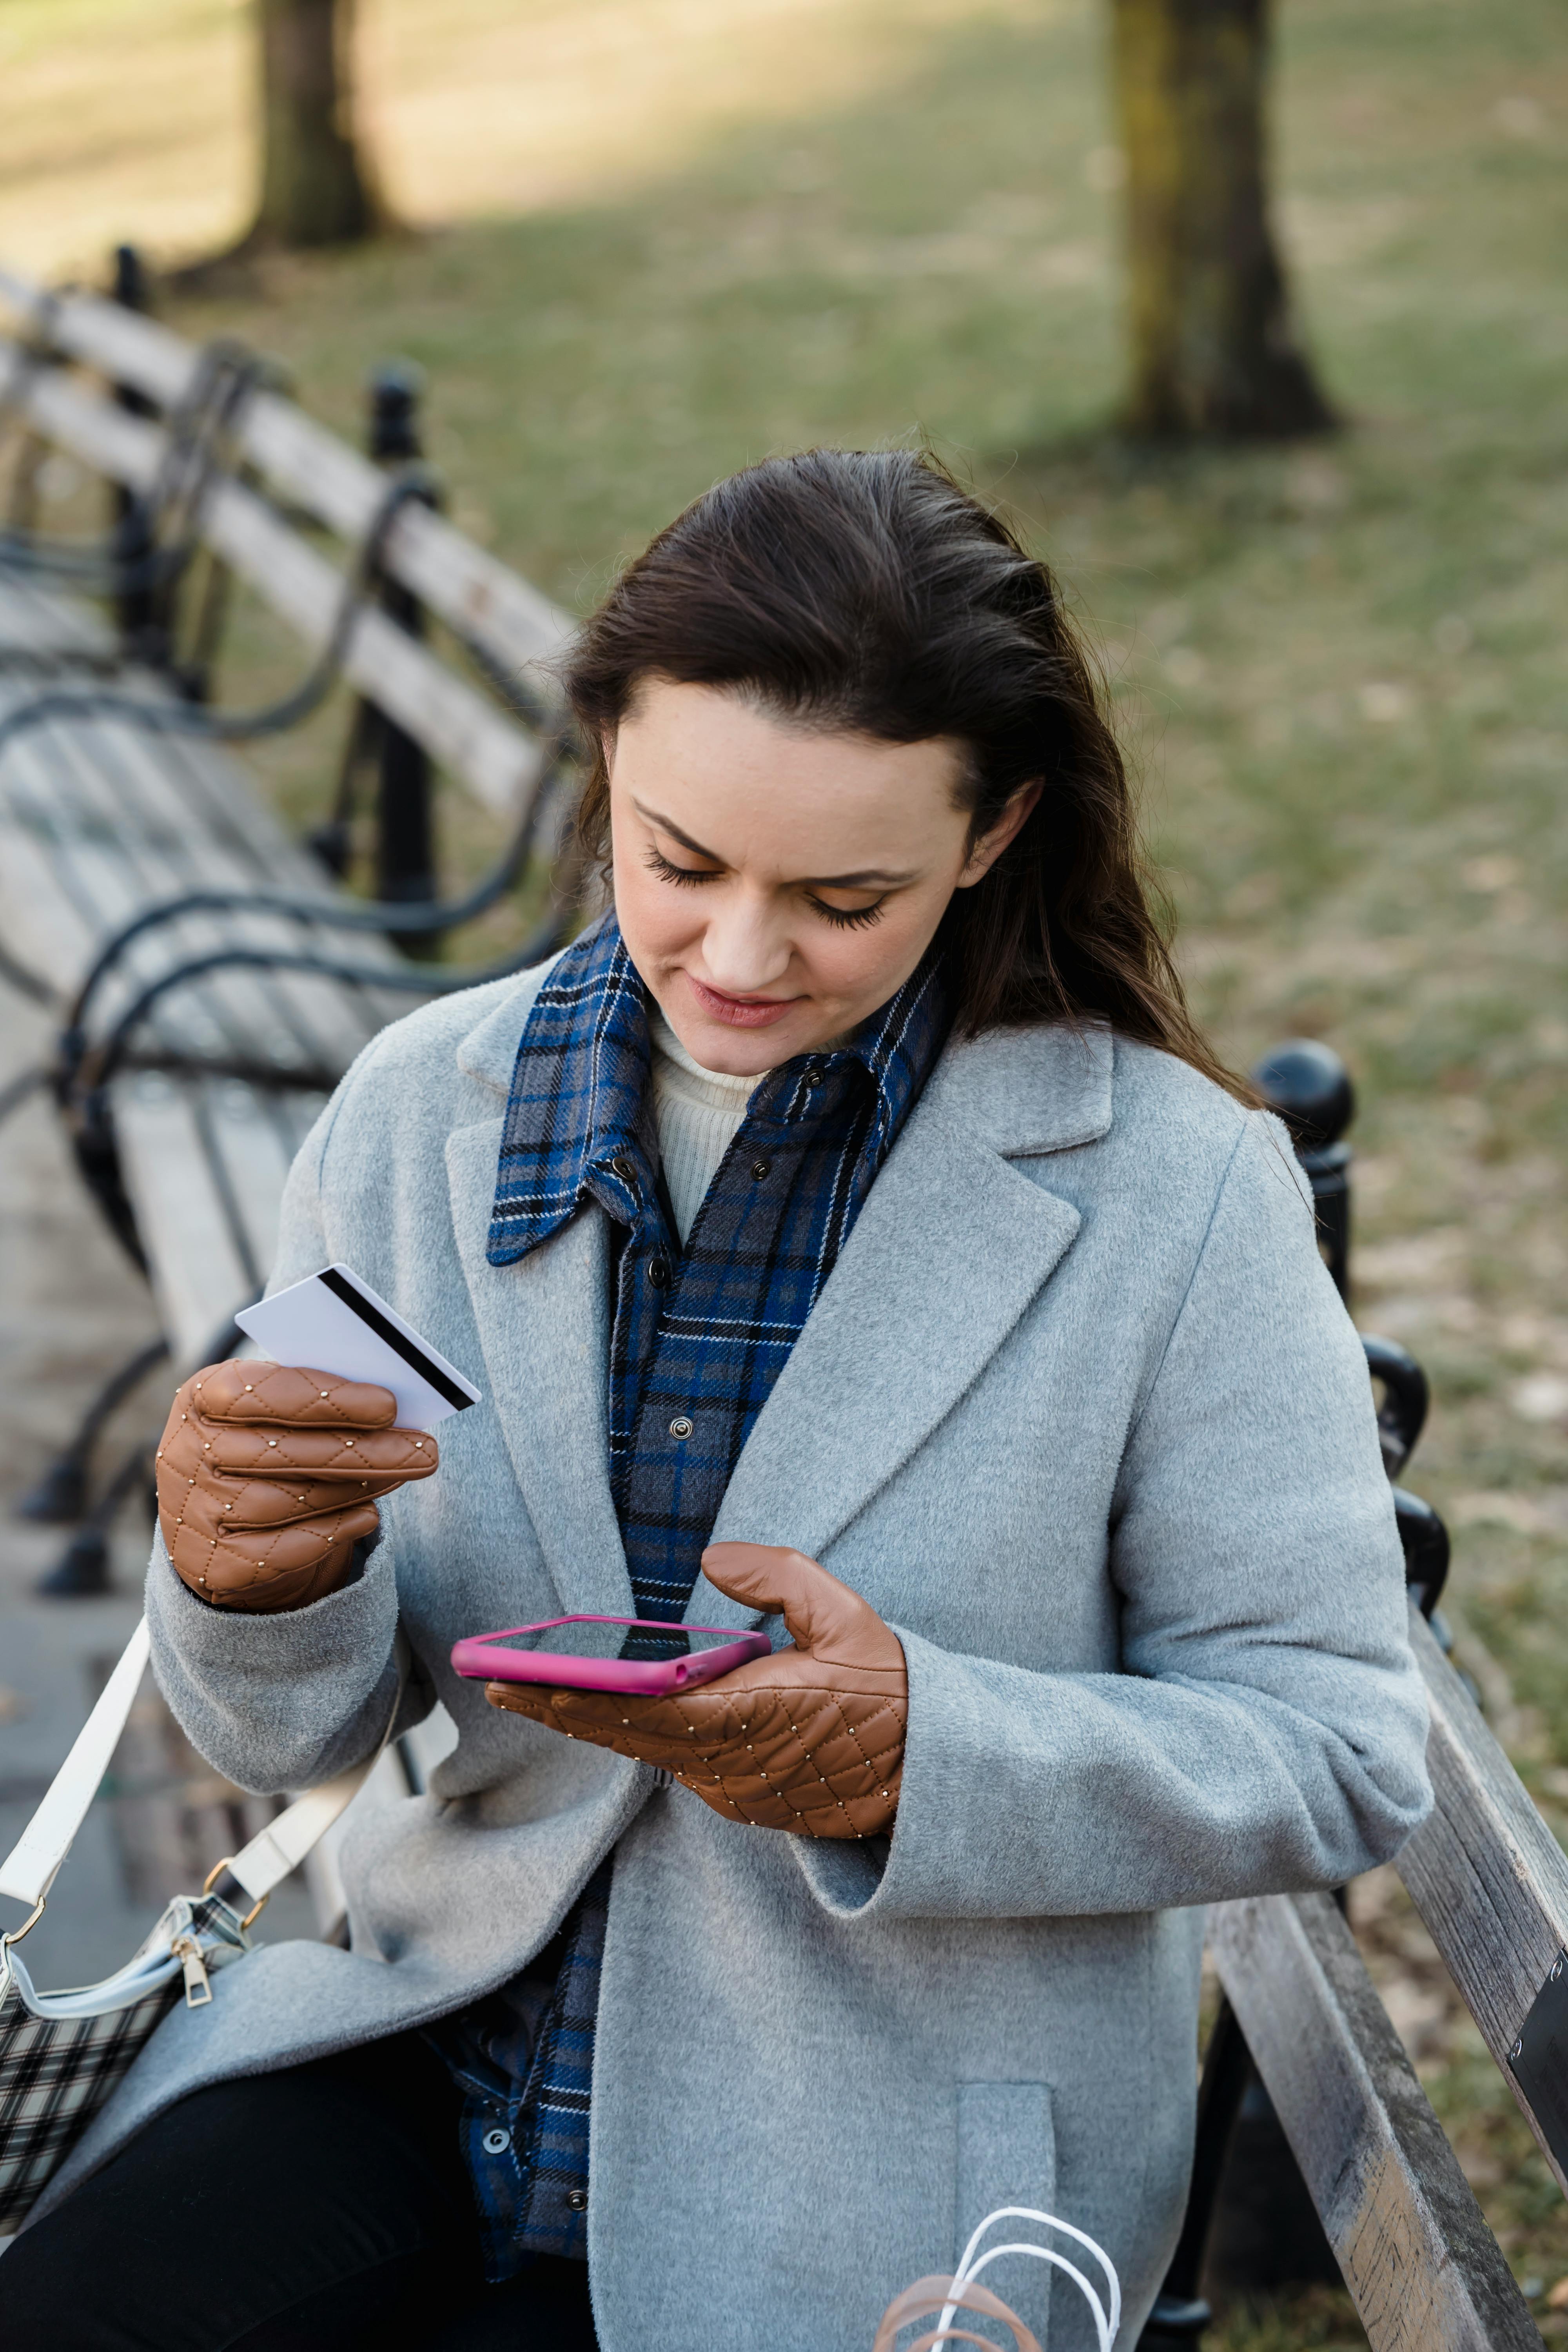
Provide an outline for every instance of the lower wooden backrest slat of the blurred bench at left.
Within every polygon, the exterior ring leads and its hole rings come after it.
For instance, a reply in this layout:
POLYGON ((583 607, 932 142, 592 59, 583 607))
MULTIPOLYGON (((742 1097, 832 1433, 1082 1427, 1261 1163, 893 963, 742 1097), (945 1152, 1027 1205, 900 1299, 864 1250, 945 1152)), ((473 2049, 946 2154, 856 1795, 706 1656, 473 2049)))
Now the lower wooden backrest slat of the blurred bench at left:
MULTIPOLYGON (((0 367, 14 346, 0 341, 0 367)), ((59 372, 40 372, 21 407, 49 440, 134 489, 158 473, 165 433, 127 416, 59 372)), ((386 485, 383 485, 386 487, 386 485)), ((212 487, 202 510, 205 543, 256 588, 310 647, 322 647, 343 595, 343 574, 306 546, 254 492, 233 480, 212 487)), ((416 736, 477 800, 517 821, 538 788, 545 753, 465 680, 400 630, 374 604, 348 633, 343 677, 416 736)))

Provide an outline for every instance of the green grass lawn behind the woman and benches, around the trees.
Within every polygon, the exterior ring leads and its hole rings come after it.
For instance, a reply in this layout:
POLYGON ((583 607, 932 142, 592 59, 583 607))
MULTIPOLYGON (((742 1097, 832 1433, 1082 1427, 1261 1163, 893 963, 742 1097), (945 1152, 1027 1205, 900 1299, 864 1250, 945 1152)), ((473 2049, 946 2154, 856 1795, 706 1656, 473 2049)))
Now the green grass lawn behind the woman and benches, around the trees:
MULTIPOLYGON (((205 38, 228 38, 233 9, 205 14, 205 38)), ((397 54, 435 75, 418 38, 440 9, 383 14, 402 26, 397 54)), ((458 19, 473 54, 501 38, 480 0, 458 19)), ((1103 9, 954 0, 893 16, 844 0, 832 16, 790 0, 738 19, 715 64, 722 19, 679 14, 670 38, 708 59, 696 94, 661 96, 658 40, 646 87, 611 75, 607 120, 578 75, 576 148, 559 120, 541 129, 555 160, 536 183, 487 181, 449 141, 440 228, 280 263, 176 325, 277 350, 343 430, 371 360, 418 360, 458 522, 574 607, 693 492, 769 449, 926 437, 1009 503, 1100 644, 1204 1016, 1237 1061, 1312 1033, 1352 1063, 1356 1312, 1434 1376, 1413 1484, 1455 1529, 1465 1663, 1561 1830, 1561 14, 1286 0, 1284 235, 1349 430, 1166 459, 1107 433, 1121 343, 1103 9), (785 73, 795 47, 809 71, 785 73)), ((646 40, 665 16, 628 0, 621 21, 646 40)), ((564 71, 548 42, 545 64, 564 71)), ((416 96, 400 99, 400 136, 416 96)), ((534 120, 536 96, 520 103, 534 120)), ((491 92, 477 146, 494 120, 491 92)), ((247 612, 235 699, 292 666, 247 612)), ((268 753, 289 807, 320 807, 329 753, 322 729, 268 753)), ((480 849, 456 811, 449 842, 456 861, 480 849)), ((1568 2279, 1561 2197, 1399 1891, 1380 1875, 1354 1910, 1542 2333, 1568 2340, 1552 2303, 1568 2279)), ((1361 2338, 1345 2298, 1316 2296, 1232 2314, 1218 2340, 1361 2338)))

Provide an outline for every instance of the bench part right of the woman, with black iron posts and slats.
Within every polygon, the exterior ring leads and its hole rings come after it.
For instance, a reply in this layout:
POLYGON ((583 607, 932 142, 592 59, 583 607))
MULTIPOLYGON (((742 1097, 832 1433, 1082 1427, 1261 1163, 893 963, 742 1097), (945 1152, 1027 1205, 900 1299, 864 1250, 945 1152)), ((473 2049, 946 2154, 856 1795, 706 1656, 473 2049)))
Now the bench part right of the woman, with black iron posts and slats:
MULTIPOLYGON (((1349 1082, 1324 1047, 1253 1073, 1312 1178, 1324 1256, 1349 1291, 1349 1082)), ((1363 1338, 1380 1435, 1399 1479, 1427 1414, 1420 1367, 1363 1338)), ((1540 2150, 1568 2192, 1568 1858, 1537 1813, 1436 1611, 1448 1536, 1394 1484, 1410 1639, 1427 1684, 1434 1811, 1394 1867, 1540 2150)), ((1208 1912, 1222 2006, 1204 2056, 1187 2220, 1143 2352, 1201 2340, 1204 2260, 1248 2082, 1267 2091, 1373 2352, 1514 2352, 1540 2331, 1326 1893, 1253 1896, 1208 1912)), ((1262 2147, 1267 2164, 1267 2143, 1262 2147)))

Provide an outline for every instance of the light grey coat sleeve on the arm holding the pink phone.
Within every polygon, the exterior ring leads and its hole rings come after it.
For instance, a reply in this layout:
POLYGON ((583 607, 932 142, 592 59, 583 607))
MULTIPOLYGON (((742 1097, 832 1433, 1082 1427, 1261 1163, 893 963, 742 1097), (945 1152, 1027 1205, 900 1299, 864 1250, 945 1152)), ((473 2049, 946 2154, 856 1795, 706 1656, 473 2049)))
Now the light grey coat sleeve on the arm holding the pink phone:
POLYGON ((1366 1362, 1272 1120, 1246 1122, 1220 1185, 1126 1444, 1107 1562, 1114 1675, 900 1630, 891 1844, 795 1842, 832 1912, 1140 1912, 1335 1886, 1427 1813, 1366 1362))

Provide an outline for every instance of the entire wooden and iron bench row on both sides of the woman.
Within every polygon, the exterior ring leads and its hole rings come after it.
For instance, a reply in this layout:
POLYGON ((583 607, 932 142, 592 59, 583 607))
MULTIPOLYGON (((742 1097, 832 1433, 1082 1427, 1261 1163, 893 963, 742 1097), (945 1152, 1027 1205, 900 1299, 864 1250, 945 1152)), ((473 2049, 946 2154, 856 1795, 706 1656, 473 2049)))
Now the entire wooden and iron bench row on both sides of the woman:
MULTIPOLYGON (((153 1282, 158 1357, 167 1350, 183 1369, 228 1343, 235 1308, 261 1287, 282 1176, 324 1089, 386 1018, 442 983, 397 948, 400 936, 407 946, 440 929, 425 764, 440 762, 512 828, 508 880, 527 856, 555 861, 567 783, 541 663, 567 621, 421 496, 390 499, 386 470, 259 386, 233 350, 195 353, 127 303, 54 299, 5 270, 0 299, 16 318, 0 339, 0 407, 38 447, 68 452, 122 492, 108 567, 118 630, 28 569, 26 550, 7 564, 0 541, 0 974, 66 1018, 54 1084, 82 1174, 153 1282), (357 550, 348 574, 308 543, 301 517, 357 550), (329 898, 320 854, 289 842, 216 739, 63 701, 7 739, 7 715, 42 689, 63 699, 113 684, 160 708, 202 691, 212 647, 197 628, 197 652, 176 656, 153 562, 167 546, 179 555, 181 541, 252 581, 378 713, 378 913, 329 898), (501 696, 433 654, 421 614, 447 626, 501 696), (200 903, 125 936, 139 915, 193 896, 200 903)), ((376 454, 407 456, 409 442, 407 386, 388 381, 376 454)), ((24 494, 26 477, 24 466, 24 494)), ((355 727, 362 748, 362 720, 355 727)), ((334 854, 329 830, 317 842, 334 854)), ((569 880, 557 870, 524 953, 559 931, 569 880)), ((1265 1080, 1293 1120, 1345 1287, 1349 1094, 1321 1056, 1279 1063, 1265 1080)), ((1387 1343, 1368 1341, 1368 1364, 1399 1477, 1425 1383, 1387 1343)), ((80 1489, 80 1454, 56 1484, 80 1489)), ((1396 1501, 1436 1785, 1436 1811, 1399 1872, 1568 2187, 1568 1863, 1443 1651, 1441 1524, 1415 1496, 1396 1489, 1396 1501)), ((418 1788, 430 1752, 409 1748, 402 1778, 388 1766, 383 1795, 418 1788)), ((334 1905, 327 1877, 324 1924, 334 1905)), ((1187 2227, 1147 2352, 1192 2345, 1208 2321, 1204 2251, 1253 2070, 1375 2352, 1540 2345, 1338 1903, 1312 1893, 1215 1905, 1211 1950, 1225 2009, 1204 2063, 1187 2227)))

